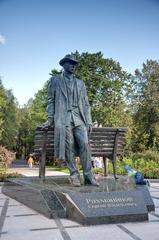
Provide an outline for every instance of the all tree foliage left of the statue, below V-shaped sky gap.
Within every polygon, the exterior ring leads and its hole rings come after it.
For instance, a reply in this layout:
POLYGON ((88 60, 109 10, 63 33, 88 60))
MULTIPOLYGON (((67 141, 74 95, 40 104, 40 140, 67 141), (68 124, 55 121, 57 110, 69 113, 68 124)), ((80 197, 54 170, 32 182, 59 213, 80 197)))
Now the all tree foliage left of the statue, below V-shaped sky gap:
POLYGON ((20 108, 11 90, 0 81, 0 144, 16 151, 16 157, 33 151, 34 133, 46 119, 47 83, 42 90, 20 108))

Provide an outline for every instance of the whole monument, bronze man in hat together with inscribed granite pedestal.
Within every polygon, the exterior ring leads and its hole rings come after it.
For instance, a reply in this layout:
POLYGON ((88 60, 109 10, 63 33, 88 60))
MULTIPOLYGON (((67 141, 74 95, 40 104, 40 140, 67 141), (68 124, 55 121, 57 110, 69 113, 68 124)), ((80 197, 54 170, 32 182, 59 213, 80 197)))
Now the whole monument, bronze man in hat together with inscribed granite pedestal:
POLYGON ((48 84, 47 121, 54 126, 54 154, 65 160, 70 176, 9 179, 3 193, 49 218, 68 218, 82 224, 122 223, 148 220, 154 203, 147 186, 125 184, 125 178, 96 181, 89 151, 92 120, 85 84, 74 76, 78 61, 72 55, 60 60, 61 75, 48 84), (76 167, 79 156, 83 178, 76 167), (70 184, 71 183, 71 184, 70 184))

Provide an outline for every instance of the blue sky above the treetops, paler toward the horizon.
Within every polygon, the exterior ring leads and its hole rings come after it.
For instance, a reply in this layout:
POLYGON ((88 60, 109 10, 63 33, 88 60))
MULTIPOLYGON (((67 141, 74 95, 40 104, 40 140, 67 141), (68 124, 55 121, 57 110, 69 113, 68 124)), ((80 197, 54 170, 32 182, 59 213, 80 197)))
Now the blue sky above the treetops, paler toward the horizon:
POLYGON ((159 0, 0 0, 0 76, 20 105, 76 50, 130 73, 159 60, 159 0))

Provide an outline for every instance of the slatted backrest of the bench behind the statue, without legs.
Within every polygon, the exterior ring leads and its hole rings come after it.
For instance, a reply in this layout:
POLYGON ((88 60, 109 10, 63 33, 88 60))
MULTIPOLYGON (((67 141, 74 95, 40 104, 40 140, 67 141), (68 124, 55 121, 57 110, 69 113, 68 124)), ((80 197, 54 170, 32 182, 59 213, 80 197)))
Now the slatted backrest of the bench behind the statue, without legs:
MULTIPOLYGON (((126 128, 94 127, 90 136, 90 148, 92 156, 107 157, 113 160, 114 154, 119 156, 123 153, 125 144, 126 128)), ((41 155, 42 147, 46 141, 46 156, 54 156, 54 129, 47 132, 36 129, 34 153, 37 157, 41 155)))

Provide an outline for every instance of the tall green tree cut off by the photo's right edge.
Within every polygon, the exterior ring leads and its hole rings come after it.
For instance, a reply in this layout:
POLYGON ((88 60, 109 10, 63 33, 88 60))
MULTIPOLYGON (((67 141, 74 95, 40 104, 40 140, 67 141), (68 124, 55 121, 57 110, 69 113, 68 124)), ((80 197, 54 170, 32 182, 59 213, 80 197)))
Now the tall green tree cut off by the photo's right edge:
POLYGON ((159 62, 147 60, 135 71, 135 141, 139 150, 155 148, 159 139, 159 62))

